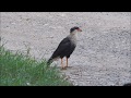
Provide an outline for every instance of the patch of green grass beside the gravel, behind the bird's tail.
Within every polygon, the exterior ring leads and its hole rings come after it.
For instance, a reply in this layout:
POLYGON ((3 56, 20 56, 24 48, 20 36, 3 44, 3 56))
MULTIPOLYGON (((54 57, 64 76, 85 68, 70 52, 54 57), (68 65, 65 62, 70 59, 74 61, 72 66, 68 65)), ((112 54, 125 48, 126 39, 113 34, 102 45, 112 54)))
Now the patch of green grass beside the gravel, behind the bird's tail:
POLYGON ((56 66, 0 47, 0 86, 70 86, 56 66))

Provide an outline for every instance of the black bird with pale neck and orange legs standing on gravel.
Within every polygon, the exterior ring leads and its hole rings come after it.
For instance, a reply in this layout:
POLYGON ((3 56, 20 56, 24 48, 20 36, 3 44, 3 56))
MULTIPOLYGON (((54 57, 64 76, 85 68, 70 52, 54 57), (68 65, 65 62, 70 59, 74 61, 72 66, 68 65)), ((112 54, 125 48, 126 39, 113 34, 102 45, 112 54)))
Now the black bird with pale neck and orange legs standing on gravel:
POLYGON ((68 59, 74 51, 76 47, 76 35, 82 29, 78 26, 70 28, 70 35, 63 38, 58 45, 57 49, 53 51, 52 56, 47 61, 47 64, 51 64, 55 60, 61 59, 61 69, 64 70, 68 68, 68 59), (63 58, 66 57, 67 64, 63 66, 63 58))

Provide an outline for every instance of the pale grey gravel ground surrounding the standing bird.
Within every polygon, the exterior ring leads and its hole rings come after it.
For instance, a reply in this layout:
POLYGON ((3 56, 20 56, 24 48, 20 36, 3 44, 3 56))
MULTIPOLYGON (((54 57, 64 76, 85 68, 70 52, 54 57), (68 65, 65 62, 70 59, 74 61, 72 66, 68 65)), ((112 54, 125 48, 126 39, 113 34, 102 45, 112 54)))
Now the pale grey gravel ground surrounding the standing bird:
MULTIPOLYGON (((1 12, 4 47, 48 59, 73 26, 83 30, 69 59, 67 78, 79 86, 121 86, 131 82, 130 12, 1 12)), ((60 68, 60 60, 55 61, 60 68)))

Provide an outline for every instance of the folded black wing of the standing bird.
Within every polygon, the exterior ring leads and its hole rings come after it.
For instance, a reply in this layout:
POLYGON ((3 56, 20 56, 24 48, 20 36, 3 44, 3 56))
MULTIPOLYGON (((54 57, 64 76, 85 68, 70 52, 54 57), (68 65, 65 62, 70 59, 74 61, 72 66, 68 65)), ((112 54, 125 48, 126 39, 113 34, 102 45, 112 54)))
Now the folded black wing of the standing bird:
POLYGON ((66 37, 58 46, 58 48, 55 50, 55 52, 52 53, 51 58, 57 58, 60 56, 61 52, 63 52, 68 47, 70 47, 71 45, 71 40, 66 37))

